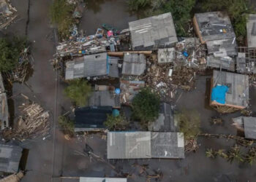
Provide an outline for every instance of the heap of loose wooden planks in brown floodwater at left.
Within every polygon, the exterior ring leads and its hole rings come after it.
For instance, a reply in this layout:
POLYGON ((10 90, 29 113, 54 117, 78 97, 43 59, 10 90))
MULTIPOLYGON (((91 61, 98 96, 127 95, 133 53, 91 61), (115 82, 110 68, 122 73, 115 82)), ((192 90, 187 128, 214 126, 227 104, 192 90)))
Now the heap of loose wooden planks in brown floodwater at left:
POLYGON ((50 128, 49 114, 38 103, 24 104, 20 106, 22 116, 18 118, 18 124, 14 130, 5 130, 4 138, 15 138, 19 141, 38 138, 48 134, 50 128))

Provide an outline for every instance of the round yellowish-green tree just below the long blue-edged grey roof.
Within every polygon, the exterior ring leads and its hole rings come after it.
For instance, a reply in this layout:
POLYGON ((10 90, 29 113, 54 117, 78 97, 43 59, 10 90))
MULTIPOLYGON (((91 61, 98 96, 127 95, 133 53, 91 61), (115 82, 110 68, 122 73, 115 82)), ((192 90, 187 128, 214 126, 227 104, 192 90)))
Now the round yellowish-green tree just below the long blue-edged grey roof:
POLYGON ((84 79, 74 79, 69 82, 64 94, 75 102, 76 106, 86 106, 91 94, 91 85, 84 79))

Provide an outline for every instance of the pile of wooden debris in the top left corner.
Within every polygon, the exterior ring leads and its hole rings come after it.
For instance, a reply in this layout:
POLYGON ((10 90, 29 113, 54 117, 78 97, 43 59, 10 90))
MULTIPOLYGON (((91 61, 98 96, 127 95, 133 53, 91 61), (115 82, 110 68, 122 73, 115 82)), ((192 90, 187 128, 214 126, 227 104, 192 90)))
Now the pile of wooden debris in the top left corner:
POLYGON ((7 28, 17 15, 17 9, 12 7, 10 0, 0 0, 0 30, 7 28))

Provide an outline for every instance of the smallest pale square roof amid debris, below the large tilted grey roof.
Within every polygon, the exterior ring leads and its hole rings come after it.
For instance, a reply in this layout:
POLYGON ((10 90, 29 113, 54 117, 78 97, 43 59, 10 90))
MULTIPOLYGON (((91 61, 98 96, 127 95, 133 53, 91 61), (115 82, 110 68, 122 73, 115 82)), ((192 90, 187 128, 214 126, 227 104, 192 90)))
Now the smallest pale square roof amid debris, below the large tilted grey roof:
POLYGON ((173 63, 176 58, 175 48, 163 48, 157 52, 158 63, 173 63))

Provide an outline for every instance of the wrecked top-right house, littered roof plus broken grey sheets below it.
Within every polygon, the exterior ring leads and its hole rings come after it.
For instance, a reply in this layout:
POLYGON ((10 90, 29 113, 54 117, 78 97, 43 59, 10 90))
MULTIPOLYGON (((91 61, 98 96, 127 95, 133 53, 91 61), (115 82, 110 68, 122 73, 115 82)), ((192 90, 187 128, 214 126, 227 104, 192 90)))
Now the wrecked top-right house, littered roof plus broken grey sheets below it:
POLYGON ((229 17, 222 12, 197 13, 193 23, 200 42, 207 46, 207 65, 235 71, 236 34, 229 17))

